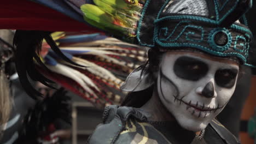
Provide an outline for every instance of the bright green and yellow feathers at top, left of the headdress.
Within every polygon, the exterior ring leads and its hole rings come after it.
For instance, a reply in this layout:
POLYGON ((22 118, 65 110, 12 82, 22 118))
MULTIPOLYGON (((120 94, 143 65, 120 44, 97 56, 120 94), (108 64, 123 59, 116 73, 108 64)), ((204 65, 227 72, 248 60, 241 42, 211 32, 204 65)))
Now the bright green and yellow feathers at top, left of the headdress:
POLYGON ((96 5, 84 4, 80 9, 91 25, 113 35, 132 40, 142 11, 138 0, 93 0, 96 5))

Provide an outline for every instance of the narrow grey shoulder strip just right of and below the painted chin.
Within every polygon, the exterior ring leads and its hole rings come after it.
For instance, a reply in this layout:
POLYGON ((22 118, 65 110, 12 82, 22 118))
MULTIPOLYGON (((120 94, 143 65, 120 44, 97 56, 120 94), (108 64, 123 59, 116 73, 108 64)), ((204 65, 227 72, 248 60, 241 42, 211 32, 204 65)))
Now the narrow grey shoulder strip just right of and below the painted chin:
POLYGON ((240 143, 240 141, 237 140, 237 138, 228 129, 226 129, 224 125, 218 122, 217 119, 213 119, 210 125, 227 144, 240 143))

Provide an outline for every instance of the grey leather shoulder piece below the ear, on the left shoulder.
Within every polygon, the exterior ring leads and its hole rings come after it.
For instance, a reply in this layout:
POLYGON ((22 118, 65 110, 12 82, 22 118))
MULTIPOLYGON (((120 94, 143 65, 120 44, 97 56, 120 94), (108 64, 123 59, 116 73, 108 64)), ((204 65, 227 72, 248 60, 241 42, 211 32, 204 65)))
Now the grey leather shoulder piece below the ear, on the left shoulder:
POLYGON ((103 123, 99 124, 88 139, 90 144, 114 143, 124 130, 127 119, 133 116, 141 121, 146 117, 132 107, 110 105, 103 112, 103 123))

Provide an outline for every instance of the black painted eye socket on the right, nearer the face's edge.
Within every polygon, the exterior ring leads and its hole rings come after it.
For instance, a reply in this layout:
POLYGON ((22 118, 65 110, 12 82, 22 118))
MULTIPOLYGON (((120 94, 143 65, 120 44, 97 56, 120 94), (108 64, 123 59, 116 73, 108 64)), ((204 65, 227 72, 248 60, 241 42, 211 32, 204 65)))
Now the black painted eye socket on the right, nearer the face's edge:
POLYGON ((216 71, 214 79, 218 86, 232 88, 236 82, 237 69, 219 69, 216 71))

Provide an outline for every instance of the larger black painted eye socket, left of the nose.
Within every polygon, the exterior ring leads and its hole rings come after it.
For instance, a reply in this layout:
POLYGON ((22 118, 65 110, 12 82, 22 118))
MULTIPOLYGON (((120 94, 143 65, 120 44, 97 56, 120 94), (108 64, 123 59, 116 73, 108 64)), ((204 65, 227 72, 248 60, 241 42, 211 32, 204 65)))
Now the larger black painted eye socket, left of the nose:
POLYGON ((173 66, 174 73, 185 80, 197 81, 208 72, 208 65, 193 57, 179 57, 173 66))

